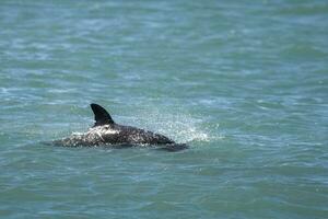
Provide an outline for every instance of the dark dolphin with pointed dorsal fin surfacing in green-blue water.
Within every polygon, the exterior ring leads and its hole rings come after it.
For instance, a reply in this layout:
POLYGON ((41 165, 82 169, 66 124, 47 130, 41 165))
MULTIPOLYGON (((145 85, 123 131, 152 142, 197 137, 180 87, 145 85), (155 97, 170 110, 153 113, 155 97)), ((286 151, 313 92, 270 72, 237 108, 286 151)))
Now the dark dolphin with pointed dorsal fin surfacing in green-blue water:
POLYGON ((73 134, 68 138, 54 141, 56 146, 128 148, 134 146, 156 147, 166 151, 178 151, 188 148, 186 143, 174 140, 141 128, 115 123, 109 113, 102 106, 90 104, 95 124, 84 134, 73 134))

